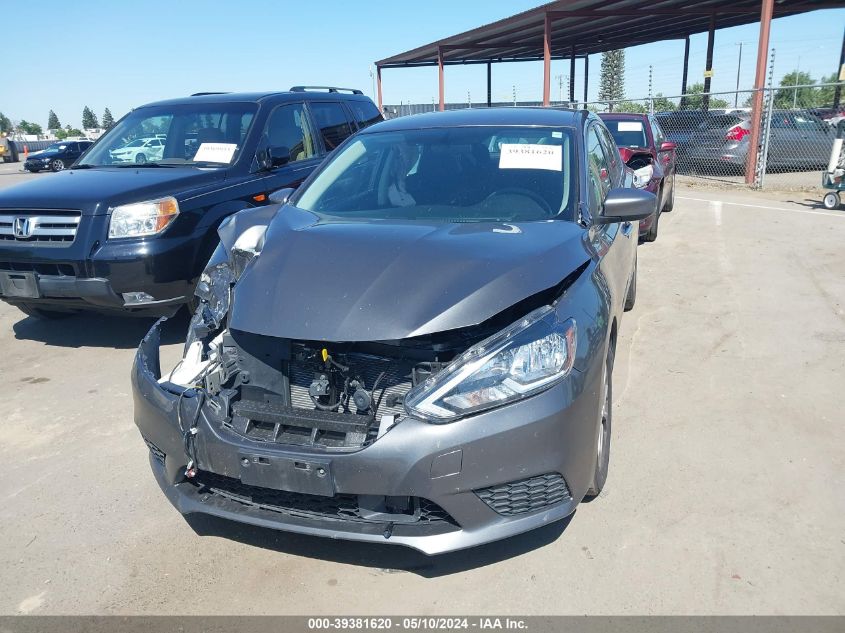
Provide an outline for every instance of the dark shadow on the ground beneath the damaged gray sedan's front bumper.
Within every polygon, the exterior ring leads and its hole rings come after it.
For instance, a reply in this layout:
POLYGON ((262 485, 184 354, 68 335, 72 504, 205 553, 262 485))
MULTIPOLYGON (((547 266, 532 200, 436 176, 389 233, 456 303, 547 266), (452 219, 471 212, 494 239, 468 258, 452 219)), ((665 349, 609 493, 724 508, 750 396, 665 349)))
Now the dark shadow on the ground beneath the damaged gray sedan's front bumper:
POLYGON ((410 572, 424 578, 437 578, 485 567, 553 543, 566 530, 573 516, 574 513, 561 521, 502 541, 437 556, 426 556, 401 545, 281 532, 207 514, 189 514, 185 520, 199 536, 217 536, 282 554, 372 567, 384 573, 410 572))

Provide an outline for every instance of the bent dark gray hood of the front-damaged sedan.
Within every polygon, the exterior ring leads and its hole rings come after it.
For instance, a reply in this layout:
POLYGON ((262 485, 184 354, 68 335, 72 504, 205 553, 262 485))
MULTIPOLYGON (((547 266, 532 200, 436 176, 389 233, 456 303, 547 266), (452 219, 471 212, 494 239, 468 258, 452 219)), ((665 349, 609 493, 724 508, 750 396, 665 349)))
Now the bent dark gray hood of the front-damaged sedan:
POLYGON ((400 340, 479 324, 590 257, 584 230, 320 221, 283 207, 235 286, 230 326, 281 338, 400 340))

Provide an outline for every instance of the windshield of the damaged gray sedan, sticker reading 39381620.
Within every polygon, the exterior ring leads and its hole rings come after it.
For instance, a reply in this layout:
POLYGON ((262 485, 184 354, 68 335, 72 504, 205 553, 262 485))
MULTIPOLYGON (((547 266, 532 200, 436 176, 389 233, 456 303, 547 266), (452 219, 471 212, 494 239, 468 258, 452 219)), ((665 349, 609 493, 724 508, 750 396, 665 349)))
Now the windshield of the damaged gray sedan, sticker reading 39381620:
POLYGON ((458 127, 362 134, 294 202, 348 220, 519 222, 573 217, 568 129, 458 127))

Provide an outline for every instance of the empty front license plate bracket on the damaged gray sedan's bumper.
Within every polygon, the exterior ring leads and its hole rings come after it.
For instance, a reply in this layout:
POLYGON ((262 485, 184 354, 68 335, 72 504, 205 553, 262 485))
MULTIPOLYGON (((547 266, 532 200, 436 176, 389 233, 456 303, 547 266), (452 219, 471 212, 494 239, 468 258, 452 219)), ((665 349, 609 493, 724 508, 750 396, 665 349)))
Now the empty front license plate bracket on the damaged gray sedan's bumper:
POLYGON ((241 483, 273 490, 333 497, 329 460, 241 453, 241 483))

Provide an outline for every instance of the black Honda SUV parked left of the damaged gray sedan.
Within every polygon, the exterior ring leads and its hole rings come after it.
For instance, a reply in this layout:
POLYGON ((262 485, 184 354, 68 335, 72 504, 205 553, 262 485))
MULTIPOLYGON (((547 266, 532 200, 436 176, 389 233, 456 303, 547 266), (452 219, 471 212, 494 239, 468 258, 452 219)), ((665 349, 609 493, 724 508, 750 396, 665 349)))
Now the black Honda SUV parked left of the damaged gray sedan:
POLYGON ((297 187, 381 120, 360 90, 309 86, 137 108, 69 169, 0 191, 0 299, 43 317, 173 314, 224 218, 297 187), (161 143, 141 161, 138 139, 161 143))

